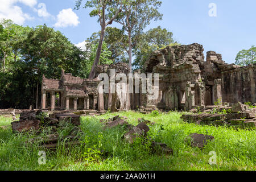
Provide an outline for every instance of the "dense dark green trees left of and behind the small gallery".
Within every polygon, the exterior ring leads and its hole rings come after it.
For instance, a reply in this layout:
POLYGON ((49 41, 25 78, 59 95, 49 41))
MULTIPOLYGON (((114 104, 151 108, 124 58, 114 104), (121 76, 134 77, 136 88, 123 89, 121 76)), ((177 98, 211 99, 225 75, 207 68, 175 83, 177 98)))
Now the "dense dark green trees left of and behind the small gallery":
POLYGON ((59 78, 64 69, 74 76, 86 77, 87 52, 53 28, 22 27, 2 20, 0 39, 1 66, 5 62, 5 72, 3 66, 0 70, 0 108, 35 108, 36 97, 39 105, 42 75, 59 78))

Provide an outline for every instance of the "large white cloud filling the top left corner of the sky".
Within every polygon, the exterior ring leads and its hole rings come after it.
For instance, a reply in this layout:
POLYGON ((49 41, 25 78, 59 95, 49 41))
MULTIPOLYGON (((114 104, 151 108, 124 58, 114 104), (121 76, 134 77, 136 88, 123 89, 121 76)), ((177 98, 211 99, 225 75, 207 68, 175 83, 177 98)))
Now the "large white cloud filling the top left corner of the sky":
POLYGON ((21 7, 16 6, 16 3, 23 3, 26 6, 34 7, 36 0, 0 0, 0 19, 11 19, 16 24, 23 24, 25 20, 30 20, 32 17, 23 13, 21 7))

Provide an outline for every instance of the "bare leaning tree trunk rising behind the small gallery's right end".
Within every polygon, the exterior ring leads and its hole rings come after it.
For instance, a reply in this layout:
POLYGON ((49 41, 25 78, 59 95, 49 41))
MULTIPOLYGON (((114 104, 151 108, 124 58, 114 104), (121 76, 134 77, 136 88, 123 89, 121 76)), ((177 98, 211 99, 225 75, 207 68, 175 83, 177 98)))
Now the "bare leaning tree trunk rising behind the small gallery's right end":
POLYGON ((104 40, 104 35, 105 35, 105 27, 101 27, 101 36, 100 36, 100 40, 98 42, 98 49, 96 52, 96 57, 95 57, 95 60, 94 60, 93 66, 92 66, 92 70, 90 71, 89 79, 95 78, 96 67, 97 67, 98 63, 100 62, 101 49, 102 49, 102 44, 103 44, 103 40, 104 40))

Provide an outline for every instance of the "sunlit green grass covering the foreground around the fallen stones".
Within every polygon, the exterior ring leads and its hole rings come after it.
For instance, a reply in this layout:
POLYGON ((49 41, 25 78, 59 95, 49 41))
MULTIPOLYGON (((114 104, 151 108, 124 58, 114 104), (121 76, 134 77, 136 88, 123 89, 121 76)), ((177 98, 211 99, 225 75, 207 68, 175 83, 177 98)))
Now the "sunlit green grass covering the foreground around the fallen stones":
MULTIPOLYGON (((82 117, 84 132, 81 144, 76 147, 60 147, 56 152, 46 151, 46 165, 38 164, 36 146, 26 147, 24 141, 32 134, 13 134, 11 127, 0 129, 0 170, 255 170, 256 131, 234 130, 226 127, 199 126, 185 123, 180 119, 184 113, 141 114, 121 112, 98 117, 82 117), (147 145, 137 140, 133 146, 122 136, 123 127, 103 130, 100 119, 115 115, 127 117, 127 121, 138 125, 137 119, 155 122, 150 126, 148 137, 156 142, 166 143, 174 150, 174 155, 151 154, 147 145), (193 148, 184 139, 191 133, 213 135, 214 140, 200 150, 193 148), (88 148, 94 152, 88 152, 88 148), (108 155, 101 156, 97 150, 108 155), (217 154, 217 165, 208 164, 210 151, 217 154), (87 152, 87 154, 86 154, 87 152), (84 156, 82 156, 84 155, 84 156)), ((0 126, 10 125, 11 118, 0 117, 0 126)))

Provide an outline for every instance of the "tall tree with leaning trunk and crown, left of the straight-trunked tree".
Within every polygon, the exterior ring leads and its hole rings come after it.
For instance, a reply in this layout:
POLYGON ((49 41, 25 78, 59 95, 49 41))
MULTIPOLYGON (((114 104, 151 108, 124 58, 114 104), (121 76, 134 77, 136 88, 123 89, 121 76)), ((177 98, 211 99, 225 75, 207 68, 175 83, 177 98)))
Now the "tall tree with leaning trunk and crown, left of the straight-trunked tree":
MULTIPOLYGON (((109 26, 109 24, 112 24, 113 20, 115 20, 118 14, 121 13, 123 1, 125 0, 91 0, 86 1, 85 5, 83 6, 84 8, 93 9, 90 12, 90 16, 98 16, 98 22, 100 22, 101 26, 100 40, 98 42, 96 57, 92 66, 92 70, 90 71, 89 78, 94 78, 96 74, 96 67, 100 61, 105 29, 107 26, 109 26)), ((75 9, 79 10, 81 7, 81 3, 82 0, 77 0, 75 9)))

